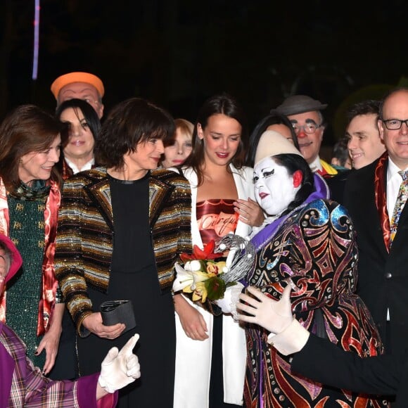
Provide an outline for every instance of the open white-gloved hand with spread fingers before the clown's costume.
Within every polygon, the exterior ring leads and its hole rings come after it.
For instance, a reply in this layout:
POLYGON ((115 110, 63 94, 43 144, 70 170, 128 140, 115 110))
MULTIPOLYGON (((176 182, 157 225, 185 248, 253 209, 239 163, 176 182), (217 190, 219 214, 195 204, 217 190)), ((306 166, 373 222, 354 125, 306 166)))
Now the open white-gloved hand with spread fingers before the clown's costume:
POLYGON ((247 291, 253 296, 241 293, 236 308, 238 312, 246 312, 250 316, 240 313, 238 319, 255 323, 272 333, 281 333, 293 321, 291 289, 291 285, 288 284, 283 290, 281 300, 276 302, 254 286, 248 286, 247 291), (243 302, 248 303, 248 305, 243 302))

